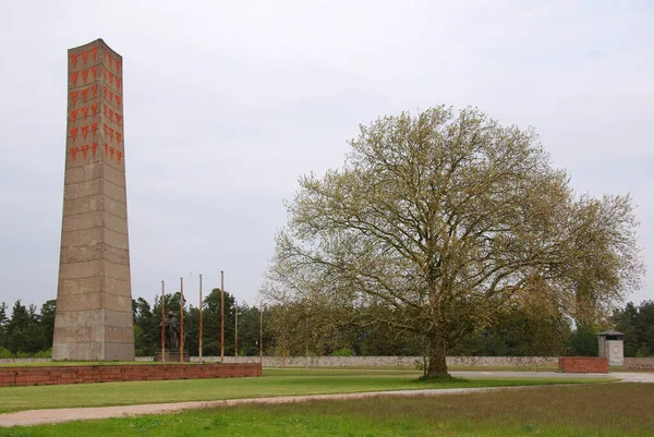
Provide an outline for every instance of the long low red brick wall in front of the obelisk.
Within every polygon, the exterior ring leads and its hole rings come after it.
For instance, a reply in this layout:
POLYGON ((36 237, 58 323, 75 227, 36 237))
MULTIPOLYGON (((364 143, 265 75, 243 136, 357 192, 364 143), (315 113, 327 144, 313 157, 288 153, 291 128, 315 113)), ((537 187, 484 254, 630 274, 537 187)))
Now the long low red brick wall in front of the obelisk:
POLYGON ((0 387, 262 376, 259 363, 0 367, 0 387))

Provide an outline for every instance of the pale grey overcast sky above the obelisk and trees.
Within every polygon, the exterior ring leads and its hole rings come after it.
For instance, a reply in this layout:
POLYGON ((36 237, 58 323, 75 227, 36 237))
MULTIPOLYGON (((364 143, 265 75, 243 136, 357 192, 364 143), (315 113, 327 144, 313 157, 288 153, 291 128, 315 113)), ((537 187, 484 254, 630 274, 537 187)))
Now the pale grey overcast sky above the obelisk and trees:
POLYGON ((579 192, 631 193, 652 270, 653 23, 649 1, 0 0, 0 301, 57 296, 66 50, 98 37, 123 56, 134 298, 225 270, 255 303, 298 178, 439 104, 534 126, 579 192))

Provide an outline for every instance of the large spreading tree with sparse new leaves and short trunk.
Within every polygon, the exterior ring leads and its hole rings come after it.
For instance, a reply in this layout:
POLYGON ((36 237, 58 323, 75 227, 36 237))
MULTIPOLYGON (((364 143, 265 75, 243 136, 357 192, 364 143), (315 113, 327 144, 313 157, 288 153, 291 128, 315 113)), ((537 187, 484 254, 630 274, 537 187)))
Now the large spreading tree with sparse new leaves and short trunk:
POLYGON ((342 169, 300 179, 263 292, 415 333, 428 377, 507 307, 593 318, 638 284, 630 198, 576 196, 531 130, 437 107, 350 144, 342 169))

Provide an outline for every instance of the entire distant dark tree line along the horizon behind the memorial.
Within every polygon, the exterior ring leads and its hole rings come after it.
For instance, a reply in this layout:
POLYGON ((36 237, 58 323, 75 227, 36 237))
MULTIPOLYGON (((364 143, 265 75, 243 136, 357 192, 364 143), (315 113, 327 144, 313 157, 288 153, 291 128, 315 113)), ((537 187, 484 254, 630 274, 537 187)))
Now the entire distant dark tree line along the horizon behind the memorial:
MULTIPOLYGON (((50 300, 40 309, 21 300, 10 308, 0 304, 0 359, 49 357, 55 328, 55 307, 50 300)), ((235 298, 225 293, 225 355, 233 356, 237 342, 235 298)), ((180 293, 166 294, 166 312, 179 316, 180 293)), ((264 307, 263 349, 266 355, 420 355, 420 338, 398 332, 384 324, 351 323, 355 316, 348 308, 316 305, 315 302, 290 302, 264 307), (343 324, 348 320, 348 324, 343 324)), ((133 300, 134 343, 137 356, 152 356, 160 348, 161 300, 133 300)), ((259 307, 238 305, 239 355, 259 353, 259 307)), ((639 305, 631 302, 613 313, 608 325, 625 333, 625 356, 654 356, 654 301, 639 305)), ((198 354, 199 308, 184 305, 185 349, 198 354)), ((449 355, 533 356, 597 355, 598 325, 579 324, 555 314, 510 308, 498 323, 463 338, 449 355)), ((220 290, 204 299, 203 355, 220 355, 220 290)))

